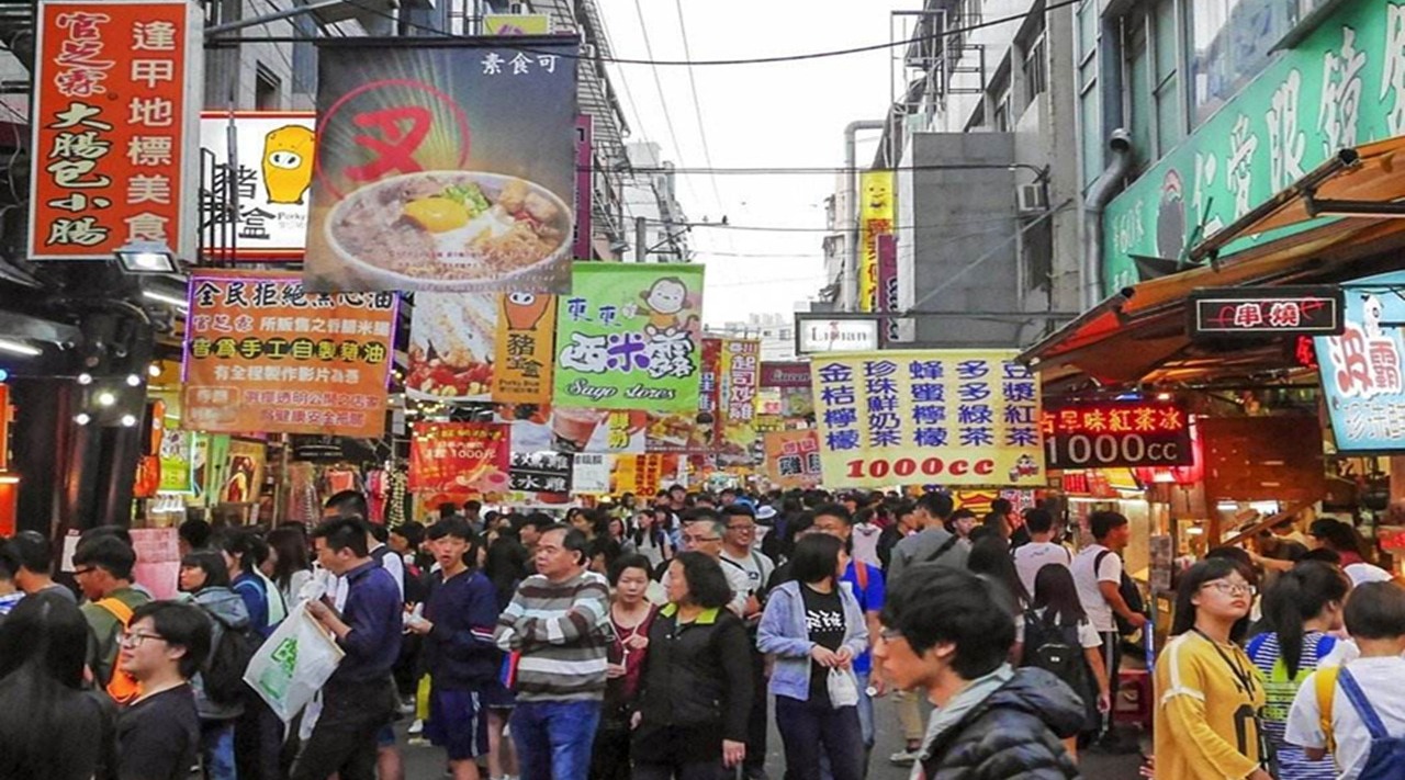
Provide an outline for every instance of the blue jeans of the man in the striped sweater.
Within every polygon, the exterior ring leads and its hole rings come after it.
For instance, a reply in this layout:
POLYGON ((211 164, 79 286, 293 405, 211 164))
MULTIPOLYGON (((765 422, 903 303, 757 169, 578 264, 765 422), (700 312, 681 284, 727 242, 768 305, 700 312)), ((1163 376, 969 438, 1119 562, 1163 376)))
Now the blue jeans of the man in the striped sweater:
POLYGON ((584 780, 600 701, 518 701, 510 729, 521 780, 584 780))

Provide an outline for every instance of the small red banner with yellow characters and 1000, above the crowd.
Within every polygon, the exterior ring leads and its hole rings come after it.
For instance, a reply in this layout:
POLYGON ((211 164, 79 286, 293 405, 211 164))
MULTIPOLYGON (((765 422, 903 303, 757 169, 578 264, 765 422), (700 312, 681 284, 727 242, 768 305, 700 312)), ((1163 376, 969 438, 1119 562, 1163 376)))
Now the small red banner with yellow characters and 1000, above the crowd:
POLYGON ((410 438, 412 490, 502 493, 510 482, 507 426, 417 423, 410 438))

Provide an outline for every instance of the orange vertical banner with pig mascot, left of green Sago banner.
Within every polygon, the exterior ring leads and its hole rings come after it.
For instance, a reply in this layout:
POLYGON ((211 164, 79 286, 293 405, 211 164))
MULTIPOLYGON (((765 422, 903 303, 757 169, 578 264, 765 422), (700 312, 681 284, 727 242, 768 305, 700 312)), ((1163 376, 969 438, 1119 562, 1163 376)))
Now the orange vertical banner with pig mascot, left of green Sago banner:
POLYGON ((535 292, 499 297, 493 401, 551 403, 552 344, 556 336, 556 298, 535 292))

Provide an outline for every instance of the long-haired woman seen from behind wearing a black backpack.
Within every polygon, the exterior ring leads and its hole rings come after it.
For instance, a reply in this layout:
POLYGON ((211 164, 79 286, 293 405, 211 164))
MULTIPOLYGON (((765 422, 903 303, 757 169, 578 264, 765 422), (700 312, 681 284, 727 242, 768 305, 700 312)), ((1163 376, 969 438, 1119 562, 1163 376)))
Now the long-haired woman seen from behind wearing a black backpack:
MULTIPOLYGON (((1085 731, 1096 729, 1113 707, 1103 639, 1078 600, 1078 586, 1068 566, 1044 566, 1034 575, 1034 594, 1024 611, 1024 646, 1020 666, 1038 666, 1064 680, 1083 700, 1085 731)), ((1078 736, 1064 739, 1078 760, 1078 736)))

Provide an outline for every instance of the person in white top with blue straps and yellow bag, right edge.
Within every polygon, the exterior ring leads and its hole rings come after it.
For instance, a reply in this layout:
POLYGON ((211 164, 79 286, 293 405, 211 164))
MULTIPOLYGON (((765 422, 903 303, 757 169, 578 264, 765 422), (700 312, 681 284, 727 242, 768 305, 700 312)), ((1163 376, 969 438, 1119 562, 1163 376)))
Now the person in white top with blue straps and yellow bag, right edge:
POLYGON ((1331 748, 1342 780, 1405 776, 1405 589, 1370 582, 1343 610, 1360 656, 1302 682, 1286 739, 1321 758, 1331 748))

